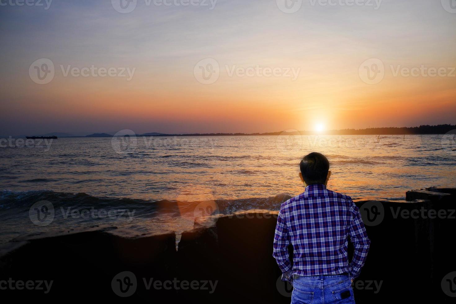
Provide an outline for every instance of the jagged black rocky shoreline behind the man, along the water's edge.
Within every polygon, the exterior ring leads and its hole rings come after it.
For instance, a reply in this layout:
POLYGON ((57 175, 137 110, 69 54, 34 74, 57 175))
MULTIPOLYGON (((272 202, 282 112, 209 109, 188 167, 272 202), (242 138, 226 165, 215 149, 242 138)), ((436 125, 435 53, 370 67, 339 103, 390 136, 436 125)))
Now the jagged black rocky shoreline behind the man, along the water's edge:
MULTIPOLYGON (((353 283, 357 303, 453 303, 444 278, 456 271, 455 198, 456 188, 427 188, 408 191, 405 201, 356 201, 371 239, 353 283)), ((0 287, 8 285, 0 292, 30 299, 290 303, 291 287, 280 282, 272 258, 277 214, 197 218, 177 249, 173 231, 117 227, 17 238, 0 248, 0 282, 6 282, 0 287)))

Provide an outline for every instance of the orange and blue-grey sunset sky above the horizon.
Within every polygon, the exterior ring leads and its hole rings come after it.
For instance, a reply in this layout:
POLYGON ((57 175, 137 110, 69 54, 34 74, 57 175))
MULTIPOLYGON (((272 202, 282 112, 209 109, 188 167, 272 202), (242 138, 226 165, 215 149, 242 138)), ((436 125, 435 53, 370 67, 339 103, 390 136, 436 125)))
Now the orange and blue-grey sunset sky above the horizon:
POLYGON ((15 1, 0 6, 0 135, 456 123, 456 11, 444 1, 383 0, 375 9, 375 1, 303 0, 294 13, 280 10, 280 0, 138 0, 129 13, 117 11, 115 0, 53 0, 48 9, 44 0, 15 1), (41 58, 55 66, 46 84, 29 73, 41 58), (219 65, 211 84, 195 74, 205 58, 219 65), (360 72, 371 58, 384 64, 376 84, 360 72), (92 65, 134 73, 131 80, 65 76, 68 66, 92 65), (257 66, 299 74, 230 75, 257 66), (444 76, 394 75, 420 66, 444 76))

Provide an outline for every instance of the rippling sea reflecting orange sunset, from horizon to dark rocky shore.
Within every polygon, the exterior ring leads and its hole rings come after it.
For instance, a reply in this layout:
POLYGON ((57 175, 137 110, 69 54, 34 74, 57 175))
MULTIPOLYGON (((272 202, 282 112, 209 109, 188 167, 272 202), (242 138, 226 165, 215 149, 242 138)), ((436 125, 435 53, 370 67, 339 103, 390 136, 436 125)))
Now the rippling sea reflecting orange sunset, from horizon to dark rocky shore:
POLYGON ((330 161, 328 188, 353 200, 456 186, 454 134, 1 139, 0 244, 97 225, 179 239, 198 216, 279 210, 305 190, 313 151, 330 161))

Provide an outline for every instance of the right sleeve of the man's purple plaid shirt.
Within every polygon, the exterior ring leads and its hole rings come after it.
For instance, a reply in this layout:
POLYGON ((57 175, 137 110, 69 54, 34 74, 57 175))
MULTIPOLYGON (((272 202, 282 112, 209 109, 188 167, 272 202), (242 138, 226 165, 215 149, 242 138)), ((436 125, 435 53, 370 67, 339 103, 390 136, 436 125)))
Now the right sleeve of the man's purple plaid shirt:
POLYGON ((354 252, 353 259, 349 267, 351 269, 350 278, 354 279, 358 277, 359 272, 361 271, 361 268, 366 261, 370 246, 370 240, 366 233, 366 228, 364 227, 363 220, 361 219, 359 208, 353 201, 351 211, 353 217, 348 234, 350 236, 350 240, 352 241, 354 252))

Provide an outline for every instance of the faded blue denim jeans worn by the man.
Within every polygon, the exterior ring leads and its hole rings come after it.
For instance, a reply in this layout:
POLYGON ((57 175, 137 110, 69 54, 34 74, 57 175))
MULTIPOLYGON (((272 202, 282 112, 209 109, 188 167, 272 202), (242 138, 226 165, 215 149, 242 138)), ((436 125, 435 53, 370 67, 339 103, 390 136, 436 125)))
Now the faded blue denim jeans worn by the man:
POLYGON ((348 275, 319 275, 293 280, 291 304, 328 303, 355 303, 348 275))

